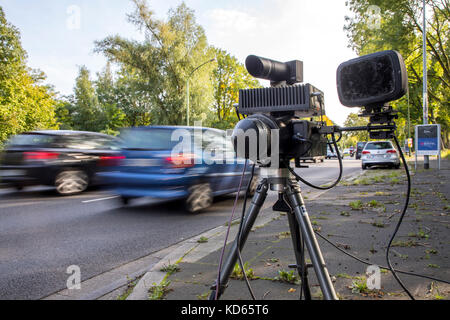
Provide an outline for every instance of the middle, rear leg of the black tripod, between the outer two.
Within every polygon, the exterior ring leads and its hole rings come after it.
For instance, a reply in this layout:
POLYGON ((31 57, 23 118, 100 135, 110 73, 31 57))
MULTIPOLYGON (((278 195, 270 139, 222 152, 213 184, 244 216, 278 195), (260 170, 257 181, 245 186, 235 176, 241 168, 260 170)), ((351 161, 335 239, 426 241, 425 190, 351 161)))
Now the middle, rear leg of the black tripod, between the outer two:
POLYGON ((302 279, 302 287, 305 293, 305 299, 311 300, 311 291, 308 284, 308 270, 305 263, 304 248, 302 248, 300 226, 298 225, 293 211, 288 212, 287 216, 289 221, 289 229, 291 230, 292 244, 294 246, 295 260, 297 261, 297 270, 302 279))

